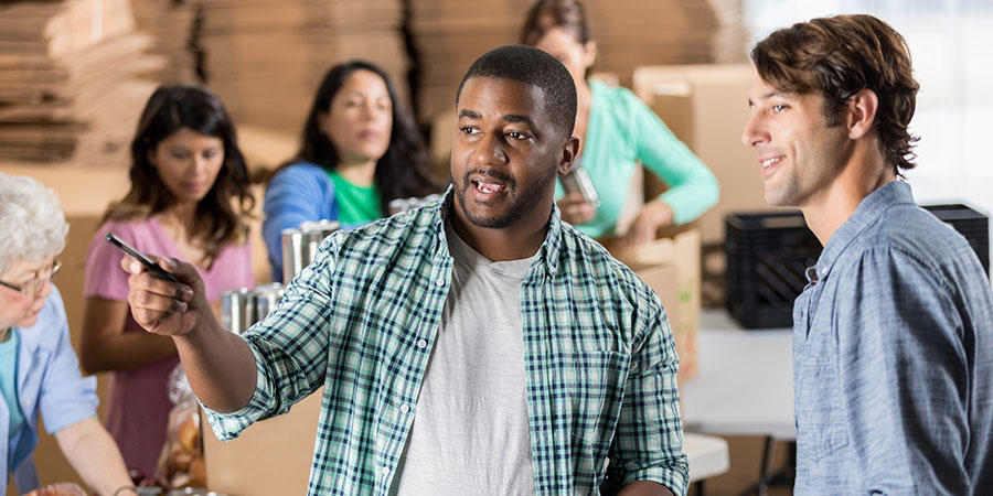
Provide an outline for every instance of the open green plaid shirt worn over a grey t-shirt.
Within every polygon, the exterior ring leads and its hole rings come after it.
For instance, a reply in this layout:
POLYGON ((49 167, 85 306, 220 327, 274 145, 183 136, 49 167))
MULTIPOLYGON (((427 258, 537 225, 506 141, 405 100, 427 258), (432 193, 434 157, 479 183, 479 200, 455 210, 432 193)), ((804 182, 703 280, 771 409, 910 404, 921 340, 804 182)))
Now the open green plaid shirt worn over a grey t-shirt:
MULTIPOLYGON (((325 239, 244 335, 256 390, 241 411, 207 411, 214 433, 237 436, 323 387, 308 494, 386 495, 451 283, 451 204, 449 188, 442 202, 325 239)), ((654 292, 554 208, 521 313, 535 493, 597 494, 609 472, 685 494, 677 358, 654 292)))

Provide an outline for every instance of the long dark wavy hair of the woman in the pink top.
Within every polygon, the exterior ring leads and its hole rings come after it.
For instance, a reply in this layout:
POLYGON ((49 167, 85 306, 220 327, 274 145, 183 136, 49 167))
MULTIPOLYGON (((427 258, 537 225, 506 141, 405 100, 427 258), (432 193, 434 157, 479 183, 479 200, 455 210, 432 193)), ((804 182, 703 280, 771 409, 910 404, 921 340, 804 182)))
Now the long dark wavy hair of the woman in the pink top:
POLYGON ((191 233, 191 237, 203 242, 206 258, 213 259, 224 246, 246 239, 248 227, 243 216, 255 206, 255 198, 248 190, 248 169, 238 150, 234 122, 221 99, 203 86, 163 85, 148 99, 131 141, 131 168, 128 171, 131 190, 107 208, 104 222, 145 219, 175 202, 149 161, 149 154, 159 142, 181 128, 224 142, 224 164, 211 191, 196 204, 191 233))

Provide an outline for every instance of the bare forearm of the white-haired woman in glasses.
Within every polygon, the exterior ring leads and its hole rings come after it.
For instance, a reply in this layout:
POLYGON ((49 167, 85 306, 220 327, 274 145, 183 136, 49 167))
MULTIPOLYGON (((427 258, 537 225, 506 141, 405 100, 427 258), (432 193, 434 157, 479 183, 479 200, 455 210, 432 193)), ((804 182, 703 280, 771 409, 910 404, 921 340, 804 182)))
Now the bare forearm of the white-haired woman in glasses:
POLYGON ((96 417, 56 432, 55 440, 83 482, 98 495, 113 496, 131 484, 117 444, 96 417))

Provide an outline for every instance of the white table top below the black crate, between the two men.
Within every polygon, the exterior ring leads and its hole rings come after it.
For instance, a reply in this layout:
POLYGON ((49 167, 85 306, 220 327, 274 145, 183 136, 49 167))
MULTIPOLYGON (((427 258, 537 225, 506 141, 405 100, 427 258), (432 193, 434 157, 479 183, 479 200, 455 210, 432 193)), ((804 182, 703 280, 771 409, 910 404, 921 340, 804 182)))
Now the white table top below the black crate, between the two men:
POLYGON ((700 375, 683 385, 685 429, 796 439, 792 331, 746 331, 725 310, 704 310, 700 326, 700 375))

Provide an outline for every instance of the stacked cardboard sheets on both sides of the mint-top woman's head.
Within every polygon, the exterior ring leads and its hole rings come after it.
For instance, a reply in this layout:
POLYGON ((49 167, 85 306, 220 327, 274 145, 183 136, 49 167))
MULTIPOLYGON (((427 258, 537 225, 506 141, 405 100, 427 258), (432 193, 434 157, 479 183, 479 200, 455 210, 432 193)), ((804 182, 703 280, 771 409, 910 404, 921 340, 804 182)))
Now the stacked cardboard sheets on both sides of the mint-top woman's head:
MULTIPOLYGON (((490 48, 519 43, 533 0, 466 7, 452 0, 415 0, 410 31, 418 60, 418 120, 428 122, 455 103, 472 61, 490 48)), ((599 56, 595 71, 630 85, 639 65, 745 60, 740 6, 732 0, 587 0, 599 56)))

